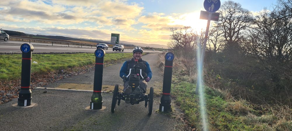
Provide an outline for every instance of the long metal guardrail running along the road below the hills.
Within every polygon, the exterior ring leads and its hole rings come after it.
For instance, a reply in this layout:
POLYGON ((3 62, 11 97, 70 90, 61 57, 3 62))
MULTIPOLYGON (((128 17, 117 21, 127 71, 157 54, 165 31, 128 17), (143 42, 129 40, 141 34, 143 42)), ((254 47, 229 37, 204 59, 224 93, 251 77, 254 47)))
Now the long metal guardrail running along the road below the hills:
MULTIPOLYGON (((54 40, 41 40, 41 39, 22 38, 22 37, 13 37, 13 36, 9 37, 9 40, 11 40, 11 38, 12 39, 20 39, 22 41, 25 40, 25 41, 27 41, 29 43, 31 43, 31 42, 39 42, 39 43, 47 43, 47 44, 51 43, 52 46, 55 43, 55 44, 61 44, 61 45, 68 45, 68 47, 69 47, 69 45, 78 45, 78 46, 81 45, 81 47, 82 46, 89 46, 91 48, 92 48, 92 46, 96 47, 96 45, 90 45, 90 44, 85 44, 85 43, 74 43, 74 42, 54 41, 54 40)), ((109 48, 112 48, 112 46, 109 46, 109 48)), ((125 50, 133 50, 133 48, 124 48, 124 49, 125 50)), ((143 49, 143 50, 144 51, 153 51, 152 49, 143 49)), ((159 52, 159 51, 158 50, 154 50, 154 52, 159 52)))

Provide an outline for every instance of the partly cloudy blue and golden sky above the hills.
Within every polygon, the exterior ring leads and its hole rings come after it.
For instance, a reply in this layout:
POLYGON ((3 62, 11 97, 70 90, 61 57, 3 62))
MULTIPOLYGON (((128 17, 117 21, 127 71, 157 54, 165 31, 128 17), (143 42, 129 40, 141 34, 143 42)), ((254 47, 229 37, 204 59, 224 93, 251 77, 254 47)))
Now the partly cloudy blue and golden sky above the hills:
MULTIPOLYGON (((221 4, 226 0, 221 0, 221 4)), ((233 0, 253 13, 277 0, 233 0)), ((170 28, 205 30, 204 0, 3 0, 0 28, 29 34, 167 45, 170 28)), ((272 8, 271 8, 272 9, 272 8)))

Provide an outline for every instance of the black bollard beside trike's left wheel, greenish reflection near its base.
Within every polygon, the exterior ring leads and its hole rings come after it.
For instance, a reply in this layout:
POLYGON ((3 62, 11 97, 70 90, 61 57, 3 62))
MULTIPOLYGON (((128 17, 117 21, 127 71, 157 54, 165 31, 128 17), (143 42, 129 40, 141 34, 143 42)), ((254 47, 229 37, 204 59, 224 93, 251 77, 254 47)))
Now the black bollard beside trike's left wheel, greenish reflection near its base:
POLYGON ((94 70, 94 82, 93 82, 93 94, 90 101, 90 109, 98 110, 102 109, 102 73, 103 73, 103 60, 105 51, 103 49, 97 49, 95 54, 95 70, 94 70))

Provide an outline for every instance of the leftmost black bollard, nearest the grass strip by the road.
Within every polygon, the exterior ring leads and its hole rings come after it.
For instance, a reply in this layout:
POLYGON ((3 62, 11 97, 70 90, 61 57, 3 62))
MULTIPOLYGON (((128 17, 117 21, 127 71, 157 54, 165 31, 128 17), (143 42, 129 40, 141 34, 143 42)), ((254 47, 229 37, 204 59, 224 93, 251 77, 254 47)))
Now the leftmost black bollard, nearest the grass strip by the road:
POLYGON ((32 104, 30 74, 32 66, 32 51, 34 50, 34 46, 32 46, 32 44, 25 43, 21 45, 20 50, 22 51, 21 87, 18 93, 17 105, 21 107, 26 107, 32 104))

